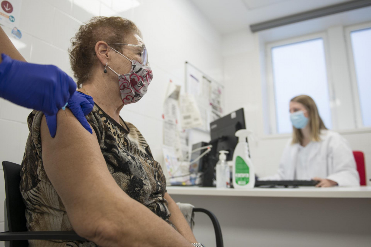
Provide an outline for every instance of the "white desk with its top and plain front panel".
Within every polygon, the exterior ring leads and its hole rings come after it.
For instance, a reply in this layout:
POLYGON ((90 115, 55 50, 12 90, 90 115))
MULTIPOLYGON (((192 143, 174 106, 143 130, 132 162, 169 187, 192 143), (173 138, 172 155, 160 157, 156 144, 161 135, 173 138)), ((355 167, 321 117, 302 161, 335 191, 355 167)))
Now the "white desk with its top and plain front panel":
MULTIPOLYGON (((224 246, 371 246, 371 187, 253 188, 168 186, 175 201, 212 211, 224 246)), ((211 221, 196 213, 194 233, 215 246, 211 221)))

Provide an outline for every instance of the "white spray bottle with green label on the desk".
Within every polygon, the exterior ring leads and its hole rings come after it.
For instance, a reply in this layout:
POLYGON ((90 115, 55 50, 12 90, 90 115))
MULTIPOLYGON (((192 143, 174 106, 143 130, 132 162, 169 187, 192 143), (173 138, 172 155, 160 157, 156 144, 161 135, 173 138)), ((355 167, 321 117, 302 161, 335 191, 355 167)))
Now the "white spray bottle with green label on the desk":
POLYGON ((237 130, 238 143, 233 153, 233 187, 236 189, 254 188, 255 171, 249 157, 249 144, 247 137, 252 134, 250 130, 237 130))

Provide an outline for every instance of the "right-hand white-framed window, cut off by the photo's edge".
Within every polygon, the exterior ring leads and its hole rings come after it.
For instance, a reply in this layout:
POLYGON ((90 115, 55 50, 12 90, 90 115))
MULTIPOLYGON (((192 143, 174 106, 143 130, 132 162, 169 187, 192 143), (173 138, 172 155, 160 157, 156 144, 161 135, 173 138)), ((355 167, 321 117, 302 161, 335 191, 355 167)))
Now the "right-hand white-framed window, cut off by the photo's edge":
POLYGON ((371 126, 371 24, 347 28, 358 127, 371 126))

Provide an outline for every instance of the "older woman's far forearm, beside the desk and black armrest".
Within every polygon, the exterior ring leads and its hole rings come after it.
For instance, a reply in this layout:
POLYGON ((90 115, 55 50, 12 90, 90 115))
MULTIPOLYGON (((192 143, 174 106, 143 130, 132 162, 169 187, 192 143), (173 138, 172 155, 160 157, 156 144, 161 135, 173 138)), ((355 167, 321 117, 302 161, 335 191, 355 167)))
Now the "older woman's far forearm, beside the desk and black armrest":
POLYGON ((171 213, 170 221, 177 228, 178 232, 190 243, 196 243, 197 240, 189 227, 187 220, 185 220, 183 213, 180 211, 178 205, 168 193, 165 193, 165 199, 168 201, 168 208, 171 213))

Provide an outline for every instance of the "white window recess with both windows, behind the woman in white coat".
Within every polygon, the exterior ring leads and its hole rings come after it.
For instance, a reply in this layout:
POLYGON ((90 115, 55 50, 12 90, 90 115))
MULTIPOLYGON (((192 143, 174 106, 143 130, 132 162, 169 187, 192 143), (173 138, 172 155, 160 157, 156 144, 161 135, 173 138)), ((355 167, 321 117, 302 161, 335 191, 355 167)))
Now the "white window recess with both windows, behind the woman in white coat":
POLYGON ((315 100, 327 128, 371 130, 371 17, 365 13, 361 16, 368 22, 359 24, 349 18, 350 11, 341 21, 329 16, 259 33, 266 65, 265 134, 292 132, 289 100, 299 94, 315 100))

